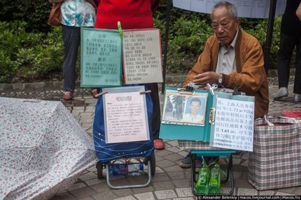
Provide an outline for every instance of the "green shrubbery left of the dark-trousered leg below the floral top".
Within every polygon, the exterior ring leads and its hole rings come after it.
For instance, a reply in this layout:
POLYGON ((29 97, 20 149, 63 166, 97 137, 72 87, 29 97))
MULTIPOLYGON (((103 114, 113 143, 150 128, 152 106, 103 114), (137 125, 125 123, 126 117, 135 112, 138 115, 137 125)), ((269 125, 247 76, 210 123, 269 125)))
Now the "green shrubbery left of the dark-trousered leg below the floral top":
POLYGON ((61 28, 47 35, 26 33, 26 23, 0 22, 0 82, 32 82, 62 77, 61 28))

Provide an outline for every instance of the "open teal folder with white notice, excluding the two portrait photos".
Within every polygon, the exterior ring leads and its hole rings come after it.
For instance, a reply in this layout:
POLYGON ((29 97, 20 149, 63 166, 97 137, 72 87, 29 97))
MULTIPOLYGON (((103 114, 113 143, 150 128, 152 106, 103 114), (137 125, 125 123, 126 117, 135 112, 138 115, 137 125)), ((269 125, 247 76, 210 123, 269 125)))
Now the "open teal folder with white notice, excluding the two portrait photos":
MULTIPOLYGON (((216 88, 217 87, 214 89, 216 88)), ((178 89, 166 87, 166 90, 178 89)), ((255 97, 244 96, 241 95, 241 93, 233 94, 213 90, 194 90, 196 93, 208 93, 205 125, 203 127, 161 123, 160 138, 210 142, 210 146, 212 147, 252 152, 255 97), (238 107, 238 111, 236 107, 238 107), (223 111, 223 113, 221 113, 221 111, 223 111), (244 113, 245 111, 246 113, 244 113), (246 117, 248 117, 247 121, 246 117), (223 124, 221 124, 222 122, 223 124), (224 129, 222 129, 222 126, 225 126, 224 129), (240 137, 231 138, 236 135, 240 137), (241 140, 248 140, 248 143, 247 141, 243 143, 241 140), (232 143, 232 141, 237 142, 237 144, 232 143), (229 143, 232 144, 229 145, 229 143)), ((191 91, 191 94, 192 93, 193 91, 191 91)), ((166 97, 164 96, 164 98, 166 97)))

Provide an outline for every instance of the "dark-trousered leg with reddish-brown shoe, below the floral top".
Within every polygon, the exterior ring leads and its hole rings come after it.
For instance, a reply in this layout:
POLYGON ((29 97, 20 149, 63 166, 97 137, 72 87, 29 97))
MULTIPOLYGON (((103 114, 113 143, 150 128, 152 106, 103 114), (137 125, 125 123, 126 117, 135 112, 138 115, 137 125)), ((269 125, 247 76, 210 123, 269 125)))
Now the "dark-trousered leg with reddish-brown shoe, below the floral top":
POLYGON ((80 28, 62 25, 62 40, 64 42, 64 100, 72 100, 76 81, 76 59, 80 46, 80 28))

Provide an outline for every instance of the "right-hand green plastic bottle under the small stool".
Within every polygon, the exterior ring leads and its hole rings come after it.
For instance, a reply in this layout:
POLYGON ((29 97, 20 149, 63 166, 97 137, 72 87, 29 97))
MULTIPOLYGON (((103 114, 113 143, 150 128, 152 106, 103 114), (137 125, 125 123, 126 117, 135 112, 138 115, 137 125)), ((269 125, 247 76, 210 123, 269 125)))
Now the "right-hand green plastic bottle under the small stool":
POLYGON ((221 167, 215 164, 210 171, 210 179, 208 184, 209 193, 220 193, 221 188, 221 167))

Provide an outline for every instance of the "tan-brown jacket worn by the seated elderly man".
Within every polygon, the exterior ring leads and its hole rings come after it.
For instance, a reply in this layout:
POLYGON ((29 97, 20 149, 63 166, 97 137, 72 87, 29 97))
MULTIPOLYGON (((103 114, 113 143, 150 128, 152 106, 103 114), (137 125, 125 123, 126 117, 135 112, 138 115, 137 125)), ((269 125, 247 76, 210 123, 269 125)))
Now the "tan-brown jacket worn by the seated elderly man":
MULTIPOLYGON (((193 80, 193 76, 206 71, 216 71, 220 44, 216 35, 207 39, 203 53, 189 71, 184 87, 193 80)), ((239 30, 235 44, 236 72, 223 74, 223 87, 243 91, 255 96, 255 118, 268 113, 268 81, 264 69, 264 53, 258 40, 239 30)))

